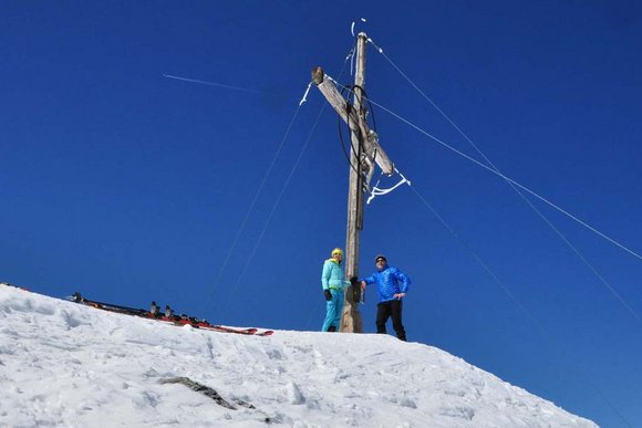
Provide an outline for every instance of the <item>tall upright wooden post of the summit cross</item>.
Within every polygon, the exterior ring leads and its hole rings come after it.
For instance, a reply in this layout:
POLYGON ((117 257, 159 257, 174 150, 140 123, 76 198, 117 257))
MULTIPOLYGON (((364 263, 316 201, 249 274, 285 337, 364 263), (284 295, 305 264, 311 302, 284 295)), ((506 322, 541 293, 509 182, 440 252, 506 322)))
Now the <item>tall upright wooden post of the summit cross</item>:
MULTIPOLYGON (((365 84, 365 42, 367 35, 359 33, 356 36, 356 66, 354 71, 354 102, 353 108, 360 123, 365 122, 362 106, 365 84)), ((363 126, 360 128, 363 129, 363 126)), ((350 184, 348 190, 348 229, 345 237, 345 276, 359 275, 359 232, 363 229, 363 156, 366 136, 361 132, 352 132, 352 149, 350 156, 350 184)), ((341 332, 363 333, 363 321, 359 311, 359 302, 353 299, 352 285, 345 290, 341 332)))

